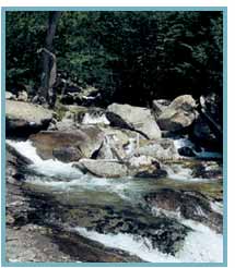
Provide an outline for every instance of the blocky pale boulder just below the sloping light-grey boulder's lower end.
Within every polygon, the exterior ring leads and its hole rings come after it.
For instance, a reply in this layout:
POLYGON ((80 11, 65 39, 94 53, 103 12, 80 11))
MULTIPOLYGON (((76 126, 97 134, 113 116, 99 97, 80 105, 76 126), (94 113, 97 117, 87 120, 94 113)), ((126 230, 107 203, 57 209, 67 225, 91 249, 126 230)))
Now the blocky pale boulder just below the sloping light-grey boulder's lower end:
POLYGON ((140 141, 140 147, 137 151, 139 155, 150 156, 158 160, 172 160, 179 157, 174 141, 171 138, 140 141))

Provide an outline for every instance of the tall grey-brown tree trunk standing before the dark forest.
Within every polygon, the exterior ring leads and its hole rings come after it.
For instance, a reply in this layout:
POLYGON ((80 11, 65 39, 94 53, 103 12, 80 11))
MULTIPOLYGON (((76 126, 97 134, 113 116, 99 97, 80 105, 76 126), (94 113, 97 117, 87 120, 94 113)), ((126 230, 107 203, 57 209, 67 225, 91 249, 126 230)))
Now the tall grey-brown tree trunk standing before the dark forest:
POLYGON ((42 92, 46 100, 48 100, 48 89, 52 87, 57 77, 56 56, 52 51, 52 40, 56 34, 56 26, 60 17, 61 12, 51 11, 48 17, 48 28, 46 35, 46 44, 43 51, 43 74, 42 74, 42 92))

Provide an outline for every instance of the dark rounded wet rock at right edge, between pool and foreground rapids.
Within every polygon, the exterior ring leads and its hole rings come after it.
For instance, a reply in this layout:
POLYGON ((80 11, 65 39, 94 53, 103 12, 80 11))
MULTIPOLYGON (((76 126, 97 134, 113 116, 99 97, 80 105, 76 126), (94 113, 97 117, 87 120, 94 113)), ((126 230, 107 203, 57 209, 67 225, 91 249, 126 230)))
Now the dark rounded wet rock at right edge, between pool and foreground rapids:
POLYGON ((223 216, 213 211, 210 199, 197 192, 162 188, 144 197, 156 215, 167 215, 201 222, 219 233, 223 232, 223 216))

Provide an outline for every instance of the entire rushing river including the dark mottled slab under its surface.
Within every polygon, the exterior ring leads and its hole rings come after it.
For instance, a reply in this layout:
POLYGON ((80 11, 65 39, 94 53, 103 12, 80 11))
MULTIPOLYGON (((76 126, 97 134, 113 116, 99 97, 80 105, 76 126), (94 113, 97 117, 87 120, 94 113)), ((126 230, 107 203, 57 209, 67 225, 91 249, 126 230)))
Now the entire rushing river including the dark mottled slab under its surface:
MULTIPOLYGON (((187 219, 177 206, 175 210, 171 210, 165 209, 165 205, 158 207, 155 200, 146 202, 146 196, 151 196, 151 193, 163 193, 161 191, 165 190, 185 191, 183 193, 186 195, 187 191, 190 194, 201 193, 208 197, 210 214, 213 211, 222 216, 222 197, 218 198, 223 188, 222 180, 193 178, 190 165, 178 162, 165 163, 167 176, 158 180, 101 179, 83 174, 73 167, 72 162, 43 160, 28 141, 8 139, 7 143, 33 161, 25 172, 25 186, 31 191, 50 195, 60 206, 66 207, 66 210, 57 211, 61 212, 60 224, 64 228, 106 246, 137 255, 145 261, 223 261, 223 234, 221 232, 203 221, 196 220, 197 218, 187 219), (78 218, 74 218, 74 215, 78 218), (155 222, 158 222, 158 217, 161 220, 164 219, 163 226, 152 230, 155 222), (164 226, 164 222, 168 222, 167 220, 169 220, 169 227, 168 223, 164 226), (124 228, 126 222, 130 223, 124 228), (142 230, 140 223, 143 224, 142 230), (136 226, 138 226, 137 229, 134 229, 136 226), (169 229, 167 229, 167 235, 168 233, 176 235, 177 232, 171 232, 171 227, 179 228, 185 235, 173 240, 174 243, 177 241, 173 249, 172 245, 167 244, 163 247, 161 241, 154 241, 154 235, 158 235, 158 232, 165 230, 164 228, 169 229)), ((171 206, 175 205, 171 204, 171 206)), ((203 219, 208 217, 203 216, 204 210, 201 210, 200 206, 193 209, 198 209, 197 217, 200 216, 203 219)))

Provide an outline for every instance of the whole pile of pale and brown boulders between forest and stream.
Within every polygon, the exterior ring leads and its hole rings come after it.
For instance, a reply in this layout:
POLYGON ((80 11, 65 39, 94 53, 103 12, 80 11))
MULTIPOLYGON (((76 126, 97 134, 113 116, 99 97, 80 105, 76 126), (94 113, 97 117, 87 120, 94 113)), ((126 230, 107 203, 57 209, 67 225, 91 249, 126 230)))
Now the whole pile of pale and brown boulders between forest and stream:
POLYGON ((158 178, 165 175, 161 161, 195 156, 188 148, 177 148, 174 138, 162 137, 164 132, 175 137, 198 122, 197 105, 190 95, 172 102, 154 100, 153 110, 119 103, 106 110, 64 106, 63 115, 56 117, 40 106, 8 99, 7 135, 40 131, 30 139, 43 159, 78 162, 75 167, 84 172, 107 178, 158 178))

